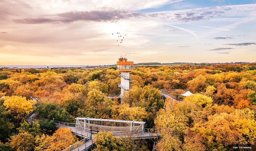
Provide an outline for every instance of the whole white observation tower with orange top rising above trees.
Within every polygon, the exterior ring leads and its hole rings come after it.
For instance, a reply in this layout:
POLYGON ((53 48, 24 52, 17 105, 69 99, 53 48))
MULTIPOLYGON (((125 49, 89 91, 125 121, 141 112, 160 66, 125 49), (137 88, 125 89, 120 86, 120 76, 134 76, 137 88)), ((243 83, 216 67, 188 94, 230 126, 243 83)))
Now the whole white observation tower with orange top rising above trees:
MULTIPOLYGON (((120 71, 119 77, 121 77, 121 83, 118 87, 121 88, 121 96, 125 91, 129 90, 129 82, 132 81, 130 78, 130 72, 133 71, 133 62, 127 61, 125 58, 119 58, 116 62, 116 70, 120 71)), ((122 98, 121 98, 122 101, 122 98)))

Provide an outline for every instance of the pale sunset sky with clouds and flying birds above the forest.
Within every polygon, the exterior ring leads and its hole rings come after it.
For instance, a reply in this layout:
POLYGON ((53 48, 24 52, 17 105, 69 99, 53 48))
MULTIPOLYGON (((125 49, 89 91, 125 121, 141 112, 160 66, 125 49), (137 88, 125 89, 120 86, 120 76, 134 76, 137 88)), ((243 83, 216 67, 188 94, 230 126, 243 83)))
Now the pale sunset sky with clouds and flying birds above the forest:
POLYGON ((0 0, 0 8, 0 65, 256 61, 256 0, 0 0))

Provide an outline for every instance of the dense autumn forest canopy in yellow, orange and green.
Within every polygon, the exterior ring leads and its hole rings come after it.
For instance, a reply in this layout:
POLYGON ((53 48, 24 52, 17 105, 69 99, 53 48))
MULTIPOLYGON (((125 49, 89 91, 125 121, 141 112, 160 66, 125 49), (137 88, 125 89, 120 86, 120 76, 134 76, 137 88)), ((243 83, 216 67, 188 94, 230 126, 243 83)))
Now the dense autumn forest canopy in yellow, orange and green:
POLYGON ((130 77, 119 104, 106 97, 120 92, 116 67, 0 68, 0 151, 61 151, 81 138, 51 120, 76 117, 144 121, 161 133, 133 140, 99 132, 94 151, 256 149, 256 63, 134 66, 130 77), (159 89, 183 100, 163 99, 159 89), (193 95, 178 96, 186 91, 193 95), (31 111, 49 121, 25 122, 31 111))

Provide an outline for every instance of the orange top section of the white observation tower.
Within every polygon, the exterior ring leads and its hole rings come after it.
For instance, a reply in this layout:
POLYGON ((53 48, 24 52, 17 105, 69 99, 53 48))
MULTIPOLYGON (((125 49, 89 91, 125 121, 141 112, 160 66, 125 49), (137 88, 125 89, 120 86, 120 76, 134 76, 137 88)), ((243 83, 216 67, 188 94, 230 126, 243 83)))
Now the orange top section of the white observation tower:
POLYGON ((133 71, 133 61, 127 61, 125 58, 119 58, 116 62, 117 71, 133 71))

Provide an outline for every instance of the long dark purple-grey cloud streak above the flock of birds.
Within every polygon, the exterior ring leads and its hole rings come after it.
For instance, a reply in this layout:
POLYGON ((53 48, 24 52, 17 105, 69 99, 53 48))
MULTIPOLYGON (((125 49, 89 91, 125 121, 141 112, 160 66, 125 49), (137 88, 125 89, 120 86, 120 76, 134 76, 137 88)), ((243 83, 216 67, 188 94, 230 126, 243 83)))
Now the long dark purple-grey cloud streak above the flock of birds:
MULTIPOLYGON (((158 14, 150 14, 151 17, 158 14)), ((46 18, 25 18, 16 19, 14 22, 21 24, 45 24, 45 23, 70 23, 74 21, 96 21, 96 22, 115 22, 130 17, 146 16, 141 13, 129 13, 121 9, 104 8, 103 10, 92 11, 71 11, 66 13, 57 13, 54 15, 45 15, 46 18)))

